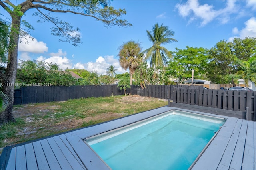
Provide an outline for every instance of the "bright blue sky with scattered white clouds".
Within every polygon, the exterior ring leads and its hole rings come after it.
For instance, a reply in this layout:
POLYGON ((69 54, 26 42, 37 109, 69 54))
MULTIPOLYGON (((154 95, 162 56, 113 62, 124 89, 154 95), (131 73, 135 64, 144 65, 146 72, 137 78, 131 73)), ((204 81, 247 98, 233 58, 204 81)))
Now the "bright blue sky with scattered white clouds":
MULTIPOLYGON (((22 1, 11 2, 19 4, 22 1)), ((116 73, 124 73, 118 63, 118 47, 130 40, 141 42, 143 50, 151 47, 146 30, 151 30, 156 22, 175 32, 172 38, 178 42, 165 45, 170 51, 175 51, 176 47, 185 49, 186 46, 210 49, 223 39, 256 37, 255 0, 114 0, 111 5, 125 8, 127 14, 122 19, 127 19, 133 26, 105 28, 94 18, 52 13, 80 28, 83 43, 77 47, 59 42, 58 37, 51 35, 53 25, 38 24, 38 18, 32 16, 34 10, 29 10, 22 19, 34 26, 35 31, 29 32, 34 41, 19 44, 18 59, 44 60, 57 63, 62 69, 96 70, 101 74, 114 65, 118 69, 116 73)), ((4 19, 8 17, 2 7, 1 14, 4 19)))

